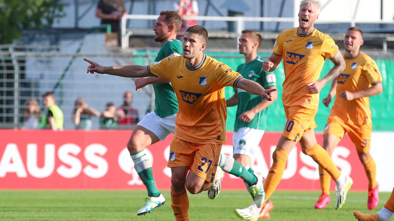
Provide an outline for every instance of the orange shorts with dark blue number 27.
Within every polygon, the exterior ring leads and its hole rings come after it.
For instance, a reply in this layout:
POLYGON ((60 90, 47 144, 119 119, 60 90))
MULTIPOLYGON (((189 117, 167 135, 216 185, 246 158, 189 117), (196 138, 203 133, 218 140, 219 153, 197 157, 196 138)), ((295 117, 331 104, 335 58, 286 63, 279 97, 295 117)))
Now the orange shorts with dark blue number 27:
POLYGON ((189 166, 202 179, 213 182, 222 144, 196 144, 174 137, 168 167, 189 166))

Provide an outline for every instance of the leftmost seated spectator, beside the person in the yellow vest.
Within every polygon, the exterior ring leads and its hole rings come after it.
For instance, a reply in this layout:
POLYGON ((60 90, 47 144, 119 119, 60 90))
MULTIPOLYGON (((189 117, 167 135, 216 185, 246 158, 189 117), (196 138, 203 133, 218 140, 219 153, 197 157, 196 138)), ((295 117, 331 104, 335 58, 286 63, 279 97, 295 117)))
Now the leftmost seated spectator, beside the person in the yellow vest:
POLYGON ((41 110, 36 99, 28 99, 23 110, 23 129, 37 129, 41 110))

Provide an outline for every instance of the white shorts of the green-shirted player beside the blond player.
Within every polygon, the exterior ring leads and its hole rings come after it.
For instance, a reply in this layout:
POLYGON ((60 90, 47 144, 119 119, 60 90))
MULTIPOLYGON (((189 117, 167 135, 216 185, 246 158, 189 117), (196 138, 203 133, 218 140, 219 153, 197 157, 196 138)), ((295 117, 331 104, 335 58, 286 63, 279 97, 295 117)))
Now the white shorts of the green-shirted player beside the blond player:
POLYGON ((264 130, 250 127, 241 127, 232 135, 233 154, 247 155, 253 157, 255 148, 258 148, 263 137, 264 130))

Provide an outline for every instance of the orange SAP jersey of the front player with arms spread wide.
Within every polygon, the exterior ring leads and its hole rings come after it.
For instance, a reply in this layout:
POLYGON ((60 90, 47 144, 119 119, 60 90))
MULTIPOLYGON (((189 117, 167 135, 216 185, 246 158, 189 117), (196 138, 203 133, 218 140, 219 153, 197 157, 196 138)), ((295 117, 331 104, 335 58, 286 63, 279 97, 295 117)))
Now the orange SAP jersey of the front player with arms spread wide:
POLYGON ((226 142, 225 86, 236 87, 242 76, 204 55, 194 68, 182 56, 166 57, 148 66, 153 76, 168 79, 177 95, 175 137, 196 144, 226 142))

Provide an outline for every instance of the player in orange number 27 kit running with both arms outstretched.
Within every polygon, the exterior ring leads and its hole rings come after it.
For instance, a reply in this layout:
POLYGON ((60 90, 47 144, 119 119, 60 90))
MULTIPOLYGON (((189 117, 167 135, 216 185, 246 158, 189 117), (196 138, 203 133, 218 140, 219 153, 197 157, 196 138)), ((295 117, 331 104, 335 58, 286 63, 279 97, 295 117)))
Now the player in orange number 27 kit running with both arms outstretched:
MULTIPOLYGON (((149 66, 104 67, 84 59, 90 63, 87 72, 92 74, 158 76, 173 85, 179 112, 175 120, 168 167, 172 172, 171 206, 178 221, 189 220, 186 189, 192 194, 208 189, 214 193, 220 191, 220 174, 216 170, 221 146, 226 141, 224 87, 241 88, 265 99, 271 99, 271 93, 275 91, 244 79, 228 65, 206 56, 203 50, 207 40, 208 32, 203 26, 191 26, 183 38, 182 57, 167 57, 149 66)), ((256 193, 255 198, 259 200, 256 200, 256 204, 264 202, 264 190, 256 193)))

